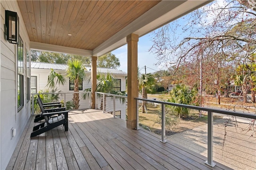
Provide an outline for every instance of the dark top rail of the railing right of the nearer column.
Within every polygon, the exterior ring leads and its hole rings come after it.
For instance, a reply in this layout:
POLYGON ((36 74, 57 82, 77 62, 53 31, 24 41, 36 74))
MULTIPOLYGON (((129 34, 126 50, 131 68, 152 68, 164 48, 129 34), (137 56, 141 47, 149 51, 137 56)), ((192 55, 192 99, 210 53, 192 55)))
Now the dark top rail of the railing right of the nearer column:
POLYGON ((134 98, 134 99, 141 100, 141 101, 149 101, 149 102, 153 102, 153 103, 160 103, 160 104, 164 104, 164 105, 185 107, 188 109, 195 109, 195 110, 207 111, 207 112, 212 112, 212 113, 221 113, 221 114, 225 114, 225 115, 245 117, 245 118, 249 118, 249 119, 256 119, 256 115, 250 114, 250 113, 241 113, 241 112, 226 111, 226 110, 221 110, 221 109, 212 109, 212 108, 200 107, 200 106, 183 105, 183 104, 178 104, 178 103, 170 103, 170 102, 157 101, 157 100, 151 100, 151 99, 142 99, 142 98, 134 98))

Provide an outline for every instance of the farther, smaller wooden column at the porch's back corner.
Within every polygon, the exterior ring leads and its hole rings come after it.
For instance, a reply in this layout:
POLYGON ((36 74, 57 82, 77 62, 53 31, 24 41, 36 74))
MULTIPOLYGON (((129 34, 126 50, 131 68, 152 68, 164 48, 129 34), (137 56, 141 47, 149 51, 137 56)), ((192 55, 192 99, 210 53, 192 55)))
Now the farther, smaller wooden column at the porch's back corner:
POLYGON ((92 76, 92 109, 95 109, 95 91, 97 86, 97 57, 92 56, 92 68, 91 68, 91 76, 92 76))

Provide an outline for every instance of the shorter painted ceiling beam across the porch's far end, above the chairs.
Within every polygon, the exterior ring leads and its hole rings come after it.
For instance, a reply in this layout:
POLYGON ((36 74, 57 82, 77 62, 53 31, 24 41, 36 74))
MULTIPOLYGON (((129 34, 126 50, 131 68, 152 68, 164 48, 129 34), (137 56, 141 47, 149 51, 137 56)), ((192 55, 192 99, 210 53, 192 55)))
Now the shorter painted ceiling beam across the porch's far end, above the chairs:
POLYGON ((38 50, 38 51, 49 51, 56 53, 65 53, 65 54, 73 54, 73 55, 85 55, 92 56, 92 51, 86 49, 65 47, 60 45, 52 45, 47 43, 40 42, 30 42, 30 49, 38 50))

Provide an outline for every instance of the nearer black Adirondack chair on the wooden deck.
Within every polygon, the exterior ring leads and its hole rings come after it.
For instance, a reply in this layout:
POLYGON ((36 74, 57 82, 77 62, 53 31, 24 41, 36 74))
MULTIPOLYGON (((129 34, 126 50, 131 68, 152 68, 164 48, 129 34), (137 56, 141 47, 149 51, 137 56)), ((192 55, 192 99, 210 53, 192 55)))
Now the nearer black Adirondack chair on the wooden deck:
MULTIPOLYGON (((37 100, 40 100, 40 99, 37 99, 37 100)), ((39 125, 36 125, 33 128, 33 132, 31 133, 30 137, 38 136, 39 134, 42 134, 60 125, 64 125, 65 131, 68 131, 68 112, 69 111, 58 111, 58 112, 46 113, 44 111, 44 107, 42 106, 42 103, 38 103, 38 104, 42 111, 41 116, 44 118, 45 121, 43 123, 40 123, 39 125), (58 116, 51 117, 54 115, 58 115, 58 116)))

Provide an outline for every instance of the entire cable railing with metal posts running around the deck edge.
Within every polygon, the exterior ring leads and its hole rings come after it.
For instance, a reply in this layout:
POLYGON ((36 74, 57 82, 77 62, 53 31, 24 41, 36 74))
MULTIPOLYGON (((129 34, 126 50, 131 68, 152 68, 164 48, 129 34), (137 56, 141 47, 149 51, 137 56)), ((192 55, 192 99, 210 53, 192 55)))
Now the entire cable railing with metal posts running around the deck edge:
MULTIPOLYGON (((68 93, 58 93, 61 95, 59 100, 64 101, 64 105, 67 101, 72 99, 72 94, 74 92, 68 93)), ((86 94, 87 97, 82 98, 80 95, 80 104, 87 103, 88 106, 86 108, 90 108, 91 103, 91 92, 76 92, 80 94, 86 94)), ((96 109, 102 110, 103 113, 110 113, 113 115, 113 118, 121 118, 126 120, 126 109, 127 109, 127 97, 120 95, 113 95, 108 93, 96 93, 95 106, 96 109)), ((56 93, 34 93, 37 94, 56 94, 56 93)), ((159 122, 161 125, 159 126, 161 130, 159 130, 161 139, 160 142, 176 142, 179 145, 183 145, 194 152, 198 152, 203 156, 207 157, 205 164, 214 167, 214 161, 220 162, 222 164, 226 164, 229 167, 234 169, 255 169, 256 168, 256 140, 255 138, 251 138, 251 131, 248 130, 248 125, 252 120, 256 119, 255 114, 249 113, 239 113, 227 110, 220 109, 212 109, 206 107, 198 107, 192 105, 182 105, 176 103, 169 103, 164 101, 150 100, 150 99, 142 99, 142 98, 134 98, 137 100, 137 108, 141 109, 142 101, 148 102, 148 107, 154 106, 157 107, 160 112, 158 115, 159 122), (194 113, 199 113, 198 111, 202 111, 205 115, 204 122, 200 122, 199 124, 191 125, 188 130, 179 132, 176 135, 166 137, 166 118, 168 119, 168 109, 169 106, 183 107, 192 109, 194 113), (195 112, 196 111, 196 112, 195 112), (166 115, 167 114, 167 115, 166 115), (167 116, 167 117, 166 117, 167 116), (219 117, 221 116, 221 118, 219 117), (207 117, 207 118, 206 118, 207 117), (243 117, 246 123, 242 124, 240 122, 240 129, 238 130, 238 126, 236 125, 238 121, 238 117, 243 117), (238 132, 240 131, 240 133, 238 132), (241 133, 245 132, 245 133, 241 133), (249 140, 250 139, 250 140, 249 140), (223 158, 224 157, 224 158, 223 158), (214 159, 213 159, 214 158, 214 159)), ((32 107, 34 106, 34 100, 32 100, 32 107)), ((141 121, 141 117, 145 117, 147 120, 150 117, 150 109, 145 110, 146 113, 140 113, 137 109, 137 125, 136 128, 139 129, 139 124, 141 121)), ((32 114, 34 108, 32 108, 32 114)), ((151 114, 152 115, 152 114, 151 114)), ((156 116, 156 115, 155 115, 156 116)), ((156 117, 152 117, 152 119, 156 119, 156 117)), ((242 119, 241 119, 242 120, 242 119)), ((152 123, 151 123, 152 124, 152 123)), ((255 133, 255 130, 254 130, 255 133)))

